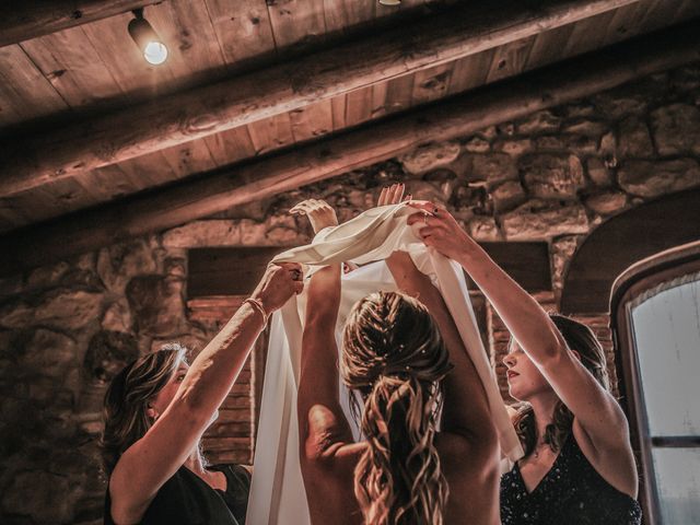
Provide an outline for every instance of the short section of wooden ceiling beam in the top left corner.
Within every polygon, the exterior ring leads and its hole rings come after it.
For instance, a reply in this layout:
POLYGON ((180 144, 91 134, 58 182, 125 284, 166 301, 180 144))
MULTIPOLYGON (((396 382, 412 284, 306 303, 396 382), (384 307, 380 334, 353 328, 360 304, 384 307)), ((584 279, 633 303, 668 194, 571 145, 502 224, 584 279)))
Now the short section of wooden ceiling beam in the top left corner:
MULTIPOLYGON (((128 13, 163 0, 49 0, 0 3, 0 47, 128 13)), ((126 35, 126 27, 125 35, 126 35)), ((127 36, 128 37, 128 36, 127 36)))

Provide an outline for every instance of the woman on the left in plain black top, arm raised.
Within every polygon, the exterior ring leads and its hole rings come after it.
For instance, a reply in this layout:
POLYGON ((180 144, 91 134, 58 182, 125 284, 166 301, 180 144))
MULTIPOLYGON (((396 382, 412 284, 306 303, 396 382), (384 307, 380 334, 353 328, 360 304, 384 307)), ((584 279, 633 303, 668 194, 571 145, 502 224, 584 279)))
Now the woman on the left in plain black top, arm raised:
POLYGON ((240 466, 208 468, 199 443, 269 314, 301 292, 301 276, 299 265, 269 265, 191 365, 183 347, 166 345, 115 376, 101 440, 105 524, 244 523, 249 474, 240 466))

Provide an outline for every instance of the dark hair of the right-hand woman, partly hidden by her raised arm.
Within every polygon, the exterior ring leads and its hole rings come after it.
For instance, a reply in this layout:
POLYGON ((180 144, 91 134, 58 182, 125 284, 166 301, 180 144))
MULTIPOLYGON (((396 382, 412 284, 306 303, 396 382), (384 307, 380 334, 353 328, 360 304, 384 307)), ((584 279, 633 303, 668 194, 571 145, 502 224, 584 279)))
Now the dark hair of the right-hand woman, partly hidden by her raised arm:
MULTIPOLYGON (((610 389, 605 351, 600 342, 593 334, 593 330, 583 323, 579 323, 570 317, 549 314, 560 334, 567 341, 567 346, 579 353, 583 365, 593 374, 596 381, 606 389, 610 389)), ((525 455, 528 456, 537 445, 537 423, 533 407, 523 402, 517 409, 517 415, 513 420, 515 432, 517 433, 525 455)), ((542 441, 547 443, 553 452, 558 452, 564 444, 567 436, 571 433, 573 424, 573 413, 567 406, 558 400, 552 415, 552 422, 545 429, 542 441)))

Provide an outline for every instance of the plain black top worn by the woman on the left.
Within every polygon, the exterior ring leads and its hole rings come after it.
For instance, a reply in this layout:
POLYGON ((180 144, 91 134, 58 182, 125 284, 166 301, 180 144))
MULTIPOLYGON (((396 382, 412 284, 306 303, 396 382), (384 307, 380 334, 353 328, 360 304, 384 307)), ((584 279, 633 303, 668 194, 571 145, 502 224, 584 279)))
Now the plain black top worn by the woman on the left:
MULTIPOLYGON (((165 481, 141 518, 141 525, 243 525, 248 506, 250 474, 240 465, 217 465, 226 476, 226 490, 212 489, 185 466, 165 481)), ((105 494, 105 525, 114 525, 105 494)))

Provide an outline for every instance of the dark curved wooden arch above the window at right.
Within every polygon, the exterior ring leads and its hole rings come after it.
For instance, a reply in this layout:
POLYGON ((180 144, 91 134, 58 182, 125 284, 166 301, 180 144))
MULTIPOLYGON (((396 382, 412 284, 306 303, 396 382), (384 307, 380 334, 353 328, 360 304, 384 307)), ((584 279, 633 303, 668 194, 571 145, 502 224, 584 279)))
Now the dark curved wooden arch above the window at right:
POLYGON ((564 276, 561 311, 604 313, 612 283, 632 264, 700 240, 700 189, 646 202, 600 224, 576 249, 564 276))

